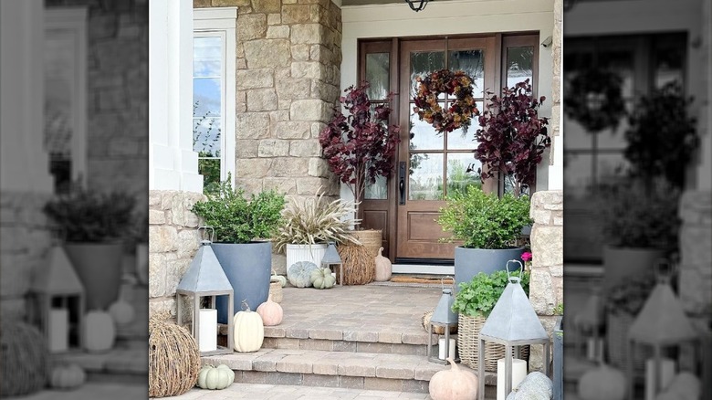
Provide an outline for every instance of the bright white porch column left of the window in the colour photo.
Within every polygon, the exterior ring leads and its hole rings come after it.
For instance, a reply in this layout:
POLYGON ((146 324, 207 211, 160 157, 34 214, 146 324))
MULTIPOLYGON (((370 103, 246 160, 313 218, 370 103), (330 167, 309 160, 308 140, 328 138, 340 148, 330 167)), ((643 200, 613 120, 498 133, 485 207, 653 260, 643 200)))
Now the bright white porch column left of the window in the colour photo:
POLYGON ((193 1, 149 3, 149 189, 203 192, 193 152, 193 1))

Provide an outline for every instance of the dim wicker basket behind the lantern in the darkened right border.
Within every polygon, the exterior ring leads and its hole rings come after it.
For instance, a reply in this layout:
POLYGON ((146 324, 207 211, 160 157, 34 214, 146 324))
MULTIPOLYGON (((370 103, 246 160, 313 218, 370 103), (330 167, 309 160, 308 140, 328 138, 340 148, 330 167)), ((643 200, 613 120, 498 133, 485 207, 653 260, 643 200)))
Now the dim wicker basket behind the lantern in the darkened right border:
MULTIPOLYGON (((625 370, 628 367, 628 331, 635 317, 627 312, 606 313, 606 348, 608 363, 625 370)), ((633 372, 645 371, 645 360, 653 357, 653 349, 649 346, 637 346, 633 354, 633 372)))

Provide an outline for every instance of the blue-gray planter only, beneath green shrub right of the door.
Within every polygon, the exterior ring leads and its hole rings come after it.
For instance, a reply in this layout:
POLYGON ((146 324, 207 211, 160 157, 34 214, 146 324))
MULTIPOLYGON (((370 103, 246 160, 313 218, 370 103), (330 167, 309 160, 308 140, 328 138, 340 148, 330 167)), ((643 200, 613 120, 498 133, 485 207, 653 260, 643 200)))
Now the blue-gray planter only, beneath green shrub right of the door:
MULTIPOLYGON (((497 250, 455 247, 455 291, 459 289, 461 282, 469 282, 480 272, 491 274, 507 268, 507 261, 510 259, 521 261, 522 253, 524 247, 497 250)), ((509 268, 514 270, 515 266, 510 265, 509 268)))

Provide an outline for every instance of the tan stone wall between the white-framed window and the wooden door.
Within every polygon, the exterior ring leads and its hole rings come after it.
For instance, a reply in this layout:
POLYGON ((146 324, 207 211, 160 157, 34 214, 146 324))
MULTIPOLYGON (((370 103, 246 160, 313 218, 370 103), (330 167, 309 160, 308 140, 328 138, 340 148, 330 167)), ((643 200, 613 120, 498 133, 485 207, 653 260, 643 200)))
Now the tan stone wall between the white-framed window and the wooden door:
POLYGON ((340 8, 330 0, 194 0, 225 5, 238 7, 237 185, 339 195, 318 137, 340 96, 340 8))

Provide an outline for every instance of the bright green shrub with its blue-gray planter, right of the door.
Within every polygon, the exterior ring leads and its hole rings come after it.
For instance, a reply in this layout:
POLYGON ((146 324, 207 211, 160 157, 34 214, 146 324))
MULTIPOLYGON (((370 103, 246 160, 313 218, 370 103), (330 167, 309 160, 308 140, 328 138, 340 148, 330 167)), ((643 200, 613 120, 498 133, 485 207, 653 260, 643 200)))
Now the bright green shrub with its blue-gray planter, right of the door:
POLYGON ((505 269, 508 260, 521 258, 524 247, 516 243, 522 227, 531 223, 529 196, 498 198, 470 185, 449 195, 440 213, 438 224, 452 234, 445 241, 462 242, 455 247, 455 284, 479 272, 505 269))

